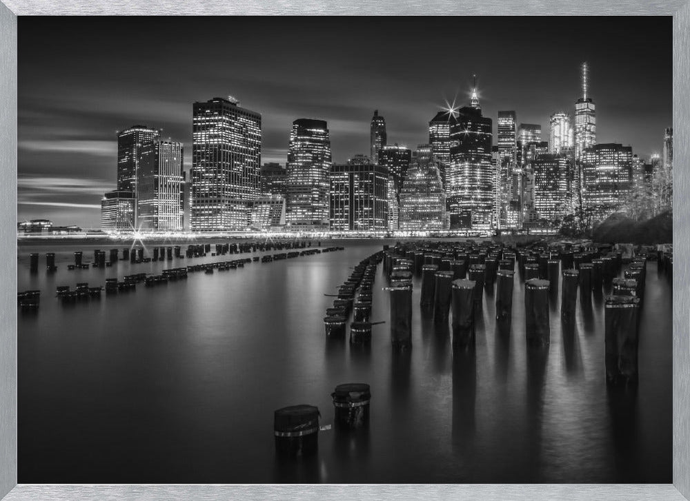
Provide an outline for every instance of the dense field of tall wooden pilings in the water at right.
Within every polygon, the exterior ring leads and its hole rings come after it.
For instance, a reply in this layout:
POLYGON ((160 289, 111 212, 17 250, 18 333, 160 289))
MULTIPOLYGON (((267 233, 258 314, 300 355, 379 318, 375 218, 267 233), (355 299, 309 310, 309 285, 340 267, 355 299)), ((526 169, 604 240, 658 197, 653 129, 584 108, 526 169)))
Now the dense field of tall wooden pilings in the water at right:
MULTIPOLYGON (((673 254, 660 252, 653 257, 671 276, 673 254)), ((420 308, 433 314, 435 323, 447 323, 451 311, 453 347, 462 348, 475 341, 475 312, 482 307, 484 293, 494 293, 494 283, 497 322, 511 322, 516 265, 524 282, 527 345, 549 345, 549 305, 555 304, 559 286, 566 327, 575 323, 578 296, 586 307, 593 294, 610 293, 604 302, 607 382, 637 381, 637 318, 644 303, 647 256, 624 263, 622 252, 610 246, 573 249, 555 243, 506 247, 491 242, 417 241, 385 248, 384 269, 395 283, 388 288, 393 345, 411 346, 412 276, 420 277, 420 308)))

